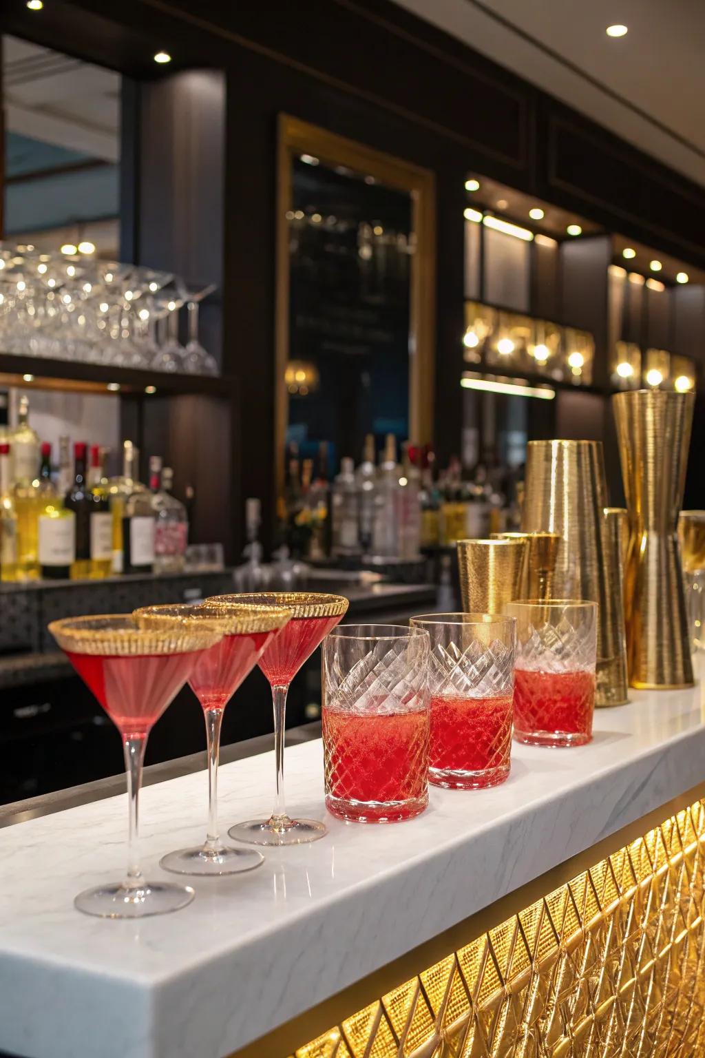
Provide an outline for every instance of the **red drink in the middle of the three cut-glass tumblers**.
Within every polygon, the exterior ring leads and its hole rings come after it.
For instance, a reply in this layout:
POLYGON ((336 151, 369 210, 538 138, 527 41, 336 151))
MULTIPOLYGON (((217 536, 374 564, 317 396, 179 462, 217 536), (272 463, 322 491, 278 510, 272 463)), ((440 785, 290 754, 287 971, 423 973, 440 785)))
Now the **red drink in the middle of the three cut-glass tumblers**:
POLYGON ((435 786, 497 786, 509 773, 511 746, 511 695, 431 698, 428 778, 435 786))

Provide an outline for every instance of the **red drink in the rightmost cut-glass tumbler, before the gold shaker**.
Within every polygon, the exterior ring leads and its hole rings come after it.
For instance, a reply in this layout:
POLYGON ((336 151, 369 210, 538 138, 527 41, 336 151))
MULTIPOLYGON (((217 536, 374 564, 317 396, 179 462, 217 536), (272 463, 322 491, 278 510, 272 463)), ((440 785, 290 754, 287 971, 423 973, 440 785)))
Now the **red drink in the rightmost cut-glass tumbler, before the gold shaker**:
POLYGON ((535 746, 583 746, 592 738, 594 672, 517 669, 514 734, 535 746))

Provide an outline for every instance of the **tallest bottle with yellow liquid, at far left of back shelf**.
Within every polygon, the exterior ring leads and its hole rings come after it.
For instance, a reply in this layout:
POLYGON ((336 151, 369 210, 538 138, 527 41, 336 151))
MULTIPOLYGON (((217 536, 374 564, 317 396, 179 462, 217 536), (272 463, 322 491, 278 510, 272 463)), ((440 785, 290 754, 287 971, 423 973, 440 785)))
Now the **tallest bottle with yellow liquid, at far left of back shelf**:
POLYGON ((17 562, 21 580, 39 577, 37 561, 37 467, 39 438, 29 423, 30 402, 20 399, 19 422, 11 432, 13 498, 17 514, 17 562))

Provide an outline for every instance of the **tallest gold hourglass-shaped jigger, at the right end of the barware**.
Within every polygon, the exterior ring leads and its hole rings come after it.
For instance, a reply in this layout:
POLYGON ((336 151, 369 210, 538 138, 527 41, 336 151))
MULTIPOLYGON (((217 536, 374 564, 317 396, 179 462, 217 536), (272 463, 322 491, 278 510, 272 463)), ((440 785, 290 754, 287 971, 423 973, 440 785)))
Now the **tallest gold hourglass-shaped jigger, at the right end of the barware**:
POLYGON ((693 394, 615 394, 621 477, 629 510, 625 574, 629 680, 638 688, 692 687, 676 537, 693 394))

